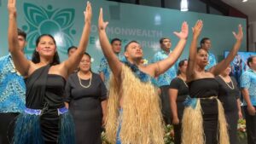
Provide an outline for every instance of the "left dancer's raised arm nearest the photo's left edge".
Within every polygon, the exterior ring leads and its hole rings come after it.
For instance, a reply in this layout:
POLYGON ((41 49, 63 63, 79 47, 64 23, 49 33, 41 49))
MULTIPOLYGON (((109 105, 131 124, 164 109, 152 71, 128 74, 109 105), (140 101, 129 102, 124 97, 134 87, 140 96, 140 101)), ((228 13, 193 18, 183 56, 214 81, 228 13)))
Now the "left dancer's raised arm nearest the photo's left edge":
POLYGON ((31 63, 26 60, 22 48, 20 48, 18 42, 18 31, 17 31, 17 13, 16 13, 16 0, 8 1, 9 10, 9 27, 8 27, 8 43, 9 52, 12 55, 12 59, 15 63, 15 68, 20 72, 22 76, 26 76, 30 68, 31 63))

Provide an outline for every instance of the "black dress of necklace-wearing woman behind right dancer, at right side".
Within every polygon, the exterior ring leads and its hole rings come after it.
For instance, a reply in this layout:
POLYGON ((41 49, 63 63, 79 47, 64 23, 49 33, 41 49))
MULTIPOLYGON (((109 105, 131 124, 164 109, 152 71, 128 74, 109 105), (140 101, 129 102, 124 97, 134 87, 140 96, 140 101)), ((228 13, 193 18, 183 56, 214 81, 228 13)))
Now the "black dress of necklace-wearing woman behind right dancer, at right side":
POLYGON ((233 85, 229 83, 231 89, 222 78, 216 77, 219 86, 218 99, 222 102, 224 107, 225 116, 227 119, 227 124, 229 124, 229 135, 230 144, 237 144, 237 121, 238 121, 238 108, 237 99, 239 99, 239 89, 237 88, 236 79, 231 77, 233 85))

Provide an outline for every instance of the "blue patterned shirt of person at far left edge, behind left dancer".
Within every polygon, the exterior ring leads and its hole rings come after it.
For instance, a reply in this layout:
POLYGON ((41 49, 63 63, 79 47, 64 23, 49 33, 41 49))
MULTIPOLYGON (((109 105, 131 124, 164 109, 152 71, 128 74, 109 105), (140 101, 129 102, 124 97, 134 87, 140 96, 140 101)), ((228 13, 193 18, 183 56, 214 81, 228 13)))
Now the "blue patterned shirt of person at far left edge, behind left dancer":
POLYGON ((23 112, 26 84, 15 71, 11 55, 0 58, 0 112, 23 112))

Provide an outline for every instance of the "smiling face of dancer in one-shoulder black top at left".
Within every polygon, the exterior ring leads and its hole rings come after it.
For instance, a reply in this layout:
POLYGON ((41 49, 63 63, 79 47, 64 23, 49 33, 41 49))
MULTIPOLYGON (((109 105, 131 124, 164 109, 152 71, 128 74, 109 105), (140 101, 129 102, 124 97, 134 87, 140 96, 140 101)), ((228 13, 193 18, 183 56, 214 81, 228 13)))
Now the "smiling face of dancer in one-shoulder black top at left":
POLYGON ((40 56, 53 58, 56 52, 55 40, 49 36, 40 37, 36 50, 40 56))

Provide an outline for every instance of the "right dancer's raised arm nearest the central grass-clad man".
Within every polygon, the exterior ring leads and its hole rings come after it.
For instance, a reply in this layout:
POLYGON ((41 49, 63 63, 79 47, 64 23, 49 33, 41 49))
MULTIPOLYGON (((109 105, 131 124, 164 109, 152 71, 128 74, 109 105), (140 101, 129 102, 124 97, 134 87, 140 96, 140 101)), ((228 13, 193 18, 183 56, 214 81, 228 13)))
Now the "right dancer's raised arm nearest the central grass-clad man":
POLYGON ((197 51, 197 41, 198 37, 201 34, 201 29, 203 27, 203 22, 202 20, 197 20, 195 23, 195 26, 192 28, 193 30, 193 37, 192 37, 192 42, 189 48, 189 63, 188 63, 188 68, 187 68, 187 80, 188 82, 192 78, 194 74, 194 68, 195 68, 195 58, 196 58, 196 51, 197 51))

